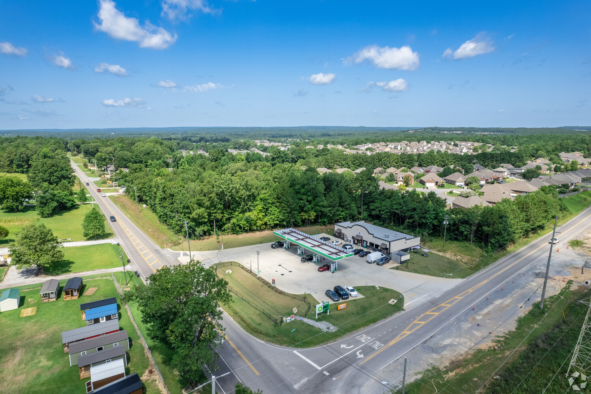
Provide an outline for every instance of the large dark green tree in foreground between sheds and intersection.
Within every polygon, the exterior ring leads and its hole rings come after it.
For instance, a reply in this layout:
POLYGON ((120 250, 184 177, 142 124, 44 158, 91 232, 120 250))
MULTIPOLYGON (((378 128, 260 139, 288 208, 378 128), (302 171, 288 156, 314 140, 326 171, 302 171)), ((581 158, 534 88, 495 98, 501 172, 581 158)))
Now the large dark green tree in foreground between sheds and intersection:
POLYGON ((224 330, 220 303, 232 301, 228 282, 199 261, 162 267, 148 277, 150 285, 126 293, 136 301, 148 336, 173 350, 171 366, 181 385, 196 386, 204 364, 216 360, 224 330))

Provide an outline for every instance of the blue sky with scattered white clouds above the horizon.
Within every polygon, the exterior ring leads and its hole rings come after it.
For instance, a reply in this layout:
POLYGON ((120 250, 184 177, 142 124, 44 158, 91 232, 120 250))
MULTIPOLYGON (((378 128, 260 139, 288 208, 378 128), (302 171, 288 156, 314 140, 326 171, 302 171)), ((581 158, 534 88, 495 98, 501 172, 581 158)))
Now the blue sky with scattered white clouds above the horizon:
POLYGON ((586 1, 2 1, 0 129, 591 125, 586 1))

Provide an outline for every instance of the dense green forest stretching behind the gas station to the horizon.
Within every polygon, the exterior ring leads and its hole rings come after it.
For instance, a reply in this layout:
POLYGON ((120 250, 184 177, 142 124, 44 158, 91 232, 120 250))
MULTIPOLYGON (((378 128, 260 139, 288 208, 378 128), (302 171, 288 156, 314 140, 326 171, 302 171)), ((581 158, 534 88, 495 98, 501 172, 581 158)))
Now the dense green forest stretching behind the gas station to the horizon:
MULTIPOLYGON (((468 173, 475 163, 484 166, 518 164, 538 156, 559 161, 556 153, 560 151, 579 150, 587 154, 591 148, 588 135, 555 137, 550 134, 515 136, 511 138, 522 138, 524 142, 517 151, 511 152, 497 144, 493 151, 476 155, 434 151, 345 154, 335 148, 304 148, 303 144, 309 144, 304 141, 294 143, 294 147, 286 151, 259 147, 267 150, 270 156, 254 152, 233 155, 227 151, 228 148, 255 147, 252 140, 207 143, 190 138, 116 137, 66 141, 5 137, 0 138, 0 170, 26 173, 29 182, 24 186, 36 190, 31 198, 35 198, 37 209, 50 206, 45 208, 45 215, 74 204, 70 187, 72 170, 66 157, 69 150, 96 160, 99 167, 113 163, 117 168, 129 169, 117 172, 116 180, 130 186, 128 190, 133 189, 134 198, 137 190, 138 201, 149 205, 160 221, 178 234, 183 234, 185 220, 195 237, 211 234, 214 227, 227 234, 363 219, 409 234, 438 235, 443 230, 441 224, 447 212, 451 216, 447 227, 450 237, 495 249, 537 230, 551 217, 565 211, 566 205, 557 198, 556 189, 542 188, 492 207, 445 211, 446 202, 433 192, 379 189, 373 170, 376 167, 454 164, 468 173), (203 148, 209 156, 180 153, 181 149, 197 148, 203 148), (348 171, 320 175, 317 167, 352 170, 366 167, 366 170, 357 175, 348 171)), ((0 189, 1 185, 7 185, 4 189, 12 187, 11 182, 0 183, 0 189)), ((4 195, 7 193, 0 190, 0 197, 4 195)), ((15 206, 12 200, 4 198, 0 204, 5 209, 15 206)))

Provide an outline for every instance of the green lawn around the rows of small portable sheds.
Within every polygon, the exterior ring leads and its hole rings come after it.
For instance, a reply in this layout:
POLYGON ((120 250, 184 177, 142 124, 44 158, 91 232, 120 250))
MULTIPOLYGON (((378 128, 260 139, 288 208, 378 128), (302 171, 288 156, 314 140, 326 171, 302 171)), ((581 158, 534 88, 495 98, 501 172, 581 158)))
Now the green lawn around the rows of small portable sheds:
MULTIPOLYGON (((144 393, 161 392, 153 380, 155 374, 147 374, 149 359, 126 309, 121 308, 119 293, 111 276, 83 279, 83 294, 89 288, 98 288, 93 295, 82 295, 69 301, 64 301, 60 295, 57 301, 41 303, 39 289, 43 283, 22 286, 20 307, 0 314, 3 332, 3 340, 0 341, 0 391, 15 394, 85 393, 85 382, 89 379, 80 380, 78 368, 70 367, 61 345, 61 332, 85 325, 80 318, 80 303, 116 297, 120 308, 119 327, 127 330, 131 343, 125 372, 137 372, 142 377, 144 393), (35 315, 20 317, 22 309, 32 307, 37 308, 35 315)), ((66 280, 60 281, 60 286, 65 284, 66 280)))

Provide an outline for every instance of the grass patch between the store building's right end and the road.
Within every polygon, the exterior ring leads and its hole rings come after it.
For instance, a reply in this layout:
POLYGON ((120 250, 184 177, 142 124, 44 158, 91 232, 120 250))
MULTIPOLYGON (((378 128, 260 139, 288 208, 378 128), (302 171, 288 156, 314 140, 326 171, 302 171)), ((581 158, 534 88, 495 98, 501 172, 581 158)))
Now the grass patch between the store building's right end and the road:
MULTIPOLYGON (((421 251, 421 253, 425 252, 421 251)), ((427 252, 428 256, 425 257, 421 256, 421 253, 411 253, 408 263, 395 264, 395 267, 392 267, 391 270, 404 270, 405 272, 460 279, 476 272, 467 269, 449 257, 431 252, 427 252)))

